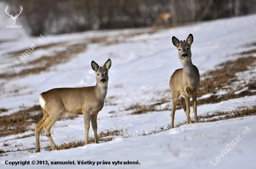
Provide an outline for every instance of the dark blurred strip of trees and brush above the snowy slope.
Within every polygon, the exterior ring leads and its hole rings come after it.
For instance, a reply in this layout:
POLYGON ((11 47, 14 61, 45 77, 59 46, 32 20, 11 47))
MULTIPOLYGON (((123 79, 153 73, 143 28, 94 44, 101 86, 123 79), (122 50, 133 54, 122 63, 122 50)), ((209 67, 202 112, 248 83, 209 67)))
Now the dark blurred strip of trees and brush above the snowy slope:
POLYGON ((256 13, 256 0, 2 0, 31 36, 182 25, 256 13))

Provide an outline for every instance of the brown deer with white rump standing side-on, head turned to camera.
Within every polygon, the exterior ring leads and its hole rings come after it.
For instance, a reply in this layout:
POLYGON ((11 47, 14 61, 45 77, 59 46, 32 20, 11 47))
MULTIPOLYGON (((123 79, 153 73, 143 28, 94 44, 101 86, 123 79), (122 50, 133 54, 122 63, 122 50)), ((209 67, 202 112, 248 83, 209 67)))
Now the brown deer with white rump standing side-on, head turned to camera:
POLYGON ((53 150, 57 150, 51 137, 50 129, 54 123, 65 114, 83 114, 85 127, 85 142, 88 144, 90 121, 94 131, 95 143, 99 143, 97 134, 97 115, 104 105, 108 90, 108 70, 111 60, 100 67, 92 61, 92 69, 96 75, 96 85, 83 88, 54 88, 43 92, 39 96, 43 118, 35 126, 35 151, 40 152, 39 135, 42 128, 53 150))

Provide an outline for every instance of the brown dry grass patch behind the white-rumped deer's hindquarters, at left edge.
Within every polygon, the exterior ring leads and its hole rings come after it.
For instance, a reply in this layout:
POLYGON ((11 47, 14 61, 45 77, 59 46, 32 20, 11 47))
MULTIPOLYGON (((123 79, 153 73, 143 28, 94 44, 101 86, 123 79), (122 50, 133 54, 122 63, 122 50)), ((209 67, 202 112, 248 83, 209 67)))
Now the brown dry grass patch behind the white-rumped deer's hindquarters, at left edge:
POLYGON ((40 106, 33 106, 7 116, 0 117, 0 137, 6 137, 14 134, 34 131, 31 128, 33 123, 38 123, 43 117, 40 106), (40 111, 34 115, 35 111, 40 111))

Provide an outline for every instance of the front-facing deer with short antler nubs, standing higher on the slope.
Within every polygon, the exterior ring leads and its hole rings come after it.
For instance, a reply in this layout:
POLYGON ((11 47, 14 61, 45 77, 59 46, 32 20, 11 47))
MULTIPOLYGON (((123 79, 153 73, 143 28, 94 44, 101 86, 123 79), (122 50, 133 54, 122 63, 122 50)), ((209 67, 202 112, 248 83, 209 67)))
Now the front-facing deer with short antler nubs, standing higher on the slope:
POLYGON ((193 65, 191 57, 191 44, 193 43, 193 35, 189 34, 187 40, 181 40, 172 37, 172 43, 178 50, 179 59, 182 62, 182 69, 177 69, 170 78, 169 87, 172 94, 172 110, 171 110, 171 128, 174 127, 174 115, 177 101, 182 94, 182 108, 187 116, 187 124, 192 123, 189 113, 189 100, 192 97, 193 110, 195 113, 195 123, 197 119, 196 97, 200 85, 200 74, 195 65, 193 65))

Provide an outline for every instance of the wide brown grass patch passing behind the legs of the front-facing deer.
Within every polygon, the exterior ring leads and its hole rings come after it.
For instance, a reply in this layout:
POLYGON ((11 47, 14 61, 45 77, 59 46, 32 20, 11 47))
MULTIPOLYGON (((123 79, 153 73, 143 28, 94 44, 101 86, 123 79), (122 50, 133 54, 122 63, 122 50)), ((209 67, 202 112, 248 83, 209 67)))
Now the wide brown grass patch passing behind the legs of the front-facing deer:
MULTIPOLYGON (((225 100, 256 95, 255 91, 251 91, 256 89, 256 81, 251 81, 248 84, 240 83, 239 85, 234 85, 234 83, 239 83, 236 73, 243 72, 249 69, 254 69, 255 66, 256 57, 241 57, 234 61, 227 61, 225 63, 221 63, 216 66, 216 69, 209 70, 205 74, 202 74, 202 80, 200 81, 200 89, 198 91, 197 98, 205 94, 211 95, 207 98, 197 100, 197 105, 219 103, 225 100), (247 89, 245 89, 241 93, 236 94, 237 90, 241 90, 244 88, 247 89), (225 91, 226 94, 219 95, 217 94, 219 91, 225 91)), ((145 105, 136 103, 126 108, 126 110, 133 110, 132 114, 142 114, 148 112, 168 110, 167 108, 157 108, 157 106, 162 105, 163 103, 170 102, 171 99, 165 96, 166 93, 167 91, 159 92, 158 95, 162 95, 162 99, 155 100, 155 104, 145 105)), ((190 101, 190 106, 193 106, 192 101, 190 101)), ((178 101, 176 109, 182 109, 180 101, 178 101)))

